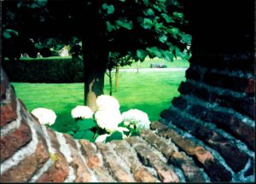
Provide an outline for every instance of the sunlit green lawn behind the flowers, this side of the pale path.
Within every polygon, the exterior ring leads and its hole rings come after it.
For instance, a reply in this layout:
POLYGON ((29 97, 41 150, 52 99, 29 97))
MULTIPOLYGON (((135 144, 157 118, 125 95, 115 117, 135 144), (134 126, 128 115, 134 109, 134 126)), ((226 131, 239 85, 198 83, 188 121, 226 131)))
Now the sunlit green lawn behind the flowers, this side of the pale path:
MULTIPOLYGON (((120 111, 137 108, 148 113, 151 121, 157 120, 162 110, 177 96, 177 87, 183 81, 184 72, 119 73, 119 91, 113 96, 119 100, 120 111)), ((66 131, 64 124, 73 124, 71 110, 84 102, 83 83, 12 83, 17 96, 29 111, 45 107, 55 111, 54 127, 66 131)), ((105 78, 105 94, 109 93, 108 77, 105 78)))

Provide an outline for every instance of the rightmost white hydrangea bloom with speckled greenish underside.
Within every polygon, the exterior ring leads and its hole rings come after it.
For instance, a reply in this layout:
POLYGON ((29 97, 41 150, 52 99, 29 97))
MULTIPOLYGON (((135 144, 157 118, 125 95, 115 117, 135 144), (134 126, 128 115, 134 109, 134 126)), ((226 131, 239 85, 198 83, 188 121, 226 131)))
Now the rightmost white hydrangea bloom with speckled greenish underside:
POLYGON ((150 121, 148 114, 137 109, 131 109, 127 112, 122 113, 125 126, 129 124, 135 124, 137 129, 149 129, 150 121))

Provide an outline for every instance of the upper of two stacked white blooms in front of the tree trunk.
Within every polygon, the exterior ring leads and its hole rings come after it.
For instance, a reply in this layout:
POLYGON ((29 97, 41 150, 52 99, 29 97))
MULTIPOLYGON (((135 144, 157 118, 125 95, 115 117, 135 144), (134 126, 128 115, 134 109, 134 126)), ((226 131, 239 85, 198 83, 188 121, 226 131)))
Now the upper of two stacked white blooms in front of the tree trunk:
POLYGON ((111 95, 100 95, 96 99, 97 110, 119 110, 119 101, 111 95))

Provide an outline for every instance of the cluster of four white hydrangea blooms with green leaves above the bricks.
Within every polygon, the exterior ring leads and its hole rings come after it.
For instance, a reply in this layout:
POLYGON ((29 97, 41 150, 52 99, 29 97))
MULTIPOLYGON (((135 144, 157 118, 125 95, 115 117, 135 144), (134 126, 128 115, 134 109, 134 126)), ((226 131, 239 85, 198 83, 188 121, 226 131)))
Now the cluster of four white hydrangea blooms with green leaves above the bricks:
POLYGON ((98 96, 96 107, 95 113, 88 106, 76 106, 72 110, 78 125, 74 132, 70 132, 74 138, 107 142, 138 135, 142 129, 149 129, 147 113, 131 109, 121 114, 119 101, 113 96, 98 96))

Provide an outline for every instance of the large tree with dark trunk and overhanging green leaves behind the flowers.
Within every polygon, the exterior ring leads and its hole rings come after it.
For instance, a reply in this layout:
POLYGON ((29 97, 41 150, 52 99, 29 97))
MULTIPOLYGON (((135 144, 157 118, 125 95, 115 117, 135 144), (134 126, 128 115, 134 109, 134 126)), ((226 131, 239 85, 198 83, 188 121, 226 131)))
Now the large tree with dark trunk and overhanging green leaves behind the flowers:
POLYGON ((84 102, 96 110, 103 94, 109 53, 143 61, 148 55, 173 60, 191 37, 184 32, 183 5, 177 0, 3 1, 3 36, 76 36, 84 55, 84 102))

